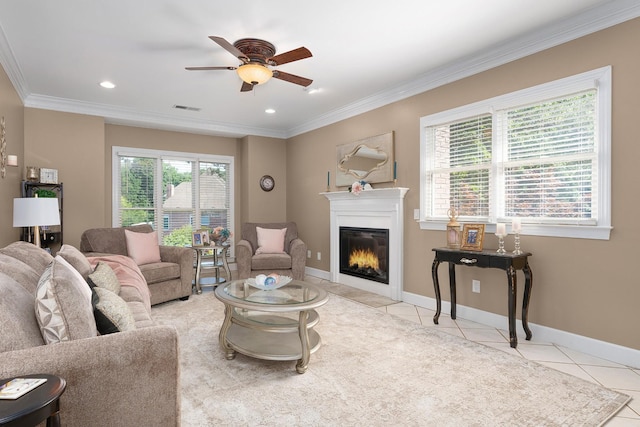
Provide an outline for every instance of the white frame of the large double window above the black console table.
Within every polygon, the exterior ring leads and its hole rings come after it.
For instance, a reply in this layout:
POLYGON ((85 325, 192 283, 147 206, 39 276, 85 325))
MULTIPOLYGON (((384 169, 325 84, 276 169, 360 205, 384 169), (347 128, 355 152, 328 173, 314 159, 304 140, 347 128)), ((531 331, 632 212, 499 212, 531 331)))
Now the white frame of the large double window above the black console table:
MULTIPOLYGON (((483 101, 467 104, 461 107, 438 112, 420 118, 420 217, 417 222, 423 230, 446 230, 448 219, 428 218, 427 201, 431 193, 427 188, 427 162, 430 153, 427 152, 427 132, 431 127, 451 123, 466 118, 491 114, 494 128, 492 131, 494 153, 492 155, 491 174, 495 178, 496 162, 495 150, 498 131, 495 126, 497 111, 517 108, 519 106, 542 103, 544 101, 571 95, 581 91, 596 89, 596 152, 598 156, 597 185, 598 185, 598 219, 596 225, 577 224, 547 224, 524 223, 521 234, 533 236, 570 237, 584 239, 609 240, 611 234, 611 66, 598 68, 574 76, 555 80, 549 83, 518 90, 505 95, 489 98, 483 101)), ((496 188, 490 188, 489 217, 486 219, 487 232, 495 232, 495 223, 510 222, 511 218, 497 217, 496 210, 500 193, 496 188)), ((482 220, 475 222, 483 222, 482 220)))

